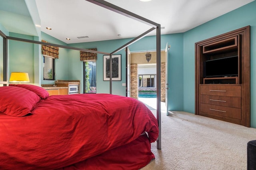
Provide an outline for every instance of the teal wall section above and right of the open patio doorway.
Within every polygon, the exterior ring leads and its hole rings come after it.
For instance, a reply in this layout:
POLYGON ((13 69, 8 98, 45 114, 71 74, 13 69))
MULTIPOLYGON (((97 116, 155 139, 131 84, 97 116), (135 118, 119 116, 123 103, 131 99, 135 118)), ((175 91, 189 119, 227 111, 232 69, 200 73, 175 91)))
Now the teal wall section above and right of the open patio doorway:
MULTIPOLYGON (((168 51, 168 109, 183 111, 183 34, 168 34, 161 36, 161 49, 166 43, 168 51)), ((156 49, 156 36, 145 37, 129 46, 130 51, 146 51, 156 49)))

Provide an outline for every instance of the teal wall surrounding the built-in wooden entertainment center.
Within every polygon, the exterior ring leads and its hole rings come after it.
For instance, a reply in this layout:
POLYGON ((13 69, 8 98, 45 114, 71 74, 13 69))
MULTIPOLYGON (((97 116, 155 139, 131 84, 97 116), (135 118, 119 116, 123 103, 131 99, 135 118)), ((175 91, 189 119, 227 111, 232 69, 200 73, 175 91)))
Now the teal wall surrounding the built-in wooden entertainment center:
POLYGON ((256 1, 184 33, 184 111, 195 110, 195 43, 251 26, 251 126, 256 127, 256 1))

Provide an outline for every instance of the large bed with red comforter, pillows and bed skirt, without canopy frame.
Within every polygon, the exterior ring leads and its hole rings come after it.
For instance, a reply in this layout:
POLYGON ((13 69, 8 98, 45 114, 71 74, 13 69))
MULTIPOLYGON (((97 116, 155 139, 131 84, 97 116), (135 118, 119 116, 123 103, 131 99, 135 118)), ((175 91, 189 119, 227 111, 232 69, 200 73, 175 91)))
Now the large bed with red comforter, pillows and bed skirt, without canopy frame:
POLYGON ((158 132, 152 112, 129 97, 0 87, 0 169, 136 170, 154 158, 158 132))

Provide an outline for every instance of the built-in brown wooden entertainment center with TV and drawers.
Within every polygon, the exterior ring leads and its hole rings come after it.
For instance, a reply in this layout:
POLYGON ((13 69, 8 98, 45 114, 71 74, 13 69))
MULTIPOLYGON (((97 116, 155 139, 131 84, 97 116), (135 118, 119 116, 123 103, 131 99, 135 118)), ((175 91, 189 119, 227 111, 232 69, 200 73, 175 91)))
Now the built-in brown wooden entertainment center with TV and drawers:
POLYGON ((195 114, 250 127, 250 26, 195 43, 195 114))

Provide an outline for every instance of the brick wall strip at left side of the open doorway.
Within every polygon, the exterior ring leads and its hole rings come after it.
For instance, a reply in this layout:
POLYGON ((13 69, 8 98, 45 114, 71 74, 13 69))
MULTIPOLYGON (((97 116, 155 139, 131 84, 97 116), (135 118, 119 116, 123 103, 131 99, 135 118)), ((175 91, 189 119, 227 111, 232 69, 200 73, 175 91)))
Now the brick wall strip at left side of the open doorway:
POLYGON ((131 89, 130 97, 138 99, 138 65, 131 64, 131 89))

